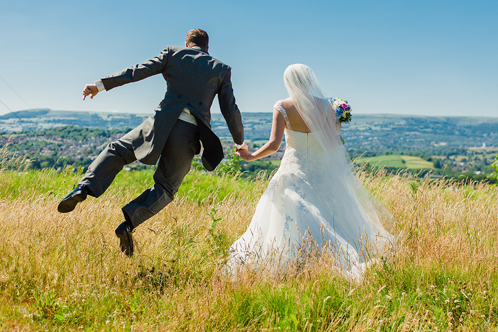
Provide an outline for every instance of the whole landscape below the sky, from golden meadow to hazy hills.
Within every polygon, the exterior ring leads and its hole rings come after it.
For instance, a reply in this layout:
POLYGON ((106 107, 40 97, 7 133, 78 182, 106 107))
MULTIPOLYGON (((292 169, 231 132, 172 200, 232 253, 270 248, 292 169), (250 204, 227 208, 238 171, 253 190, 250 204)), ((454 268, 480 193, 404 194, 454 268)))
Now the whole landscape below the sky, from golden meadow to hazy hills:
MULTIPOLYGON (((396 250, 378 257, 356 282, 333 269, 328 255, 309 255, 284 273, 226 274, 228 248, 250 223, 278 166, 275 157, 247 170, 251 177, 240 171, 254 163, 230 153, 225 173, 193 165, 175 200, 136 229, 133 257, 123 255, 113 232, 123 219, 121 206, 152 184, 154 167, 130 165, 105 195, 69 214, 59 214, 57 204, 100 149, 130 130, 134 117, 87 114, 68 123, 75 118, 64 116, 60 126, 43 127, 48 118, 39 127, 30 120, 30 130, 1 132, 0 330, 498 327, 498 191, 487 178, 437 178, 453 167, 473 176, 493 171, 498 121, 492 118, 483 124, 405 116, 395 123, 357 115, 354 125, 344 126, 359 176, 393 215, 383 222, 397 235, 396 250), (76 126, 92 116, 87 127, 76 126), (404 132, 415 128, 412 122, 417 129, 404 132)), ((269 135, 271 116, 243 116, 250 148, 257 148, 269 135)), ((221 115, 213 117, 230 152, 221 115)))

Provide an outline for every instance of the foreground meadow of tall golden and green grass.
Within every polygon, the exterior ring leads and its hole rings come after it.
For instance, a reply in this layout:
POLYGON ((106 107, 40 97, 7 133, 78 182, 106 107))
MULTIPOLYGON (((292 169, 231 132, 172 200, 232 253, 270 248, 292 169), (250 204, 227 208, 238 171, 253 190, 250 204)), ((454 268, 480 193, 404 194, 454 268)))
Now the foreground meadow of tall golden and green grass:
POLYGON ((178 197, 118 249, 120 208, 151 184, 122 173, 69 214, 79 176, 0 172, 0 330, 494 330, 498 193, 377 173, 362 180, 392 212, 398 250, 353 283, 328 256, 287 274, 223 271, 267 186, 187 176, 178 197))

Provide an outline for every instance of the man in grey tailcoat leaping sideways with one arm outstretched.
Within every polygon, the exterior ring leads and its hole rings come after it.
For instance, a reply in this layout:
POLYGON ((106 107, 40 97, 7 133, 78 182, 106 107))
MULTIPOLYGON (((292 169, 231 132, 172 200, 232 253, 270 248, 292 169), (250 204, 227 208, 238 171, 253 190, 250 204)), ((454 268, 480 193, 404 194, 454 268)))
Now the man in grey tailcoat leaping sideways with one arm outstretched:
POLYGON ((99 197, 126 164, 139 160, 154 165, 159 160, 154 185, 122 208, 125 221, 115 232, 121 250, 129 256, 133 254, 132 230, 173 200, 194 155, 201 153, 201 142, 202 164, 208 171, 213 171, 223 159, 220 139, 209 125, 210 107, 217 94, 236 147, 247 149, 241 113, 233 97, 231 69, 207 53, 208 42, 205 31, 191 30, 184 48, 166 46, 152 60, 87 84, 83 90, 83 100, 90 95, 92 99, 104 89, 109 91, 157 74, 162 74, 168 85, 155 114, 109 143, 57 208, 62 213, 70 212, 87 195, 99 197))

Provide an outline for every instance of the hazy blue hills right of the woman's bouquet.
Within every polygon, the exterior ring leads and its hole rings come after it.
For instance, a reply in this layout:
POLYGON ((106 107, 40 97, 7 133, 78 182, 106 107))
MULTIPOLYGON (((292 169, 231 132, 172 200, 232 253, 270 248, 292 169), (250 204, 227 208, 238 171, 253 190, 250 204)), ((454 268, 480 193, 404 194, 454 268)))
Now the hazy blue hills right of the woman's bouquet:
POLYGON ((498 117, 355 114, 343 131, 346 146, 360 151, 498 147, 498 117))

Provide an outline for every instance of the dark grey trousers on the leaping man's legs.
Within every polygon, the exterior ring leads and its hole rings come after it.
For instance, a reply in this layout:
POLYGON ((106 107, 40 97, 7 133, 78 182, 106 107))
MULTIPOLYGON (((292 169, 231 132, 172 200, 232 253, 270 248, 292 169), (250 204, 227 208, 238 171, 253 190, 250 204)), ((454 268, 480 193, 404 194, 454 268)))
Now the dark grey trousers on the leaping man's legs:
MULTIPOLYGON (((162 150, 154 173, 154 184, 122 208, 125 220, 130 221, 133 228, 157 214, 173 200, 200 149, 197 126, 178 120, 162 150)), ((99 197, 117 173, 135 160, 131 139, 124 135, 109 143, 93 160, 79 184, 90 188, 90 196, 99 197)))

